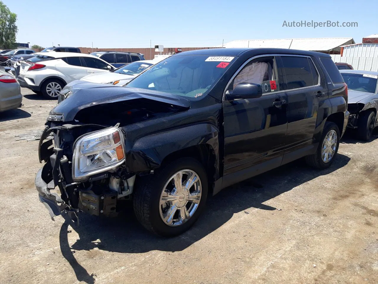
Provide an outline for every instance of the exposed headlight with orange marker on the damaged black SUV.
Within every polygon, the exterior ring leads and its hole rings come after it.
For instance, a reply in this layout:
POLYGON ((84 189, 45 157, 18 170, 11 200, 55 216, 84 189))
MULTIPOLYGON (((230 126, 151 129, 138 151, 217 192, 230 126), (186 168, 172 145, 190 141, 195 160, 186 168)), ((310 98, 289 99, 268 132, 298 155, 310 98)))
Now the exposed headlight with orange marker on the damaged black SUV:
POLYGON ((76 140, 73 152, 73 180, 116 169, 125 161, 124 138, 116 127, 96 131, 76 140))

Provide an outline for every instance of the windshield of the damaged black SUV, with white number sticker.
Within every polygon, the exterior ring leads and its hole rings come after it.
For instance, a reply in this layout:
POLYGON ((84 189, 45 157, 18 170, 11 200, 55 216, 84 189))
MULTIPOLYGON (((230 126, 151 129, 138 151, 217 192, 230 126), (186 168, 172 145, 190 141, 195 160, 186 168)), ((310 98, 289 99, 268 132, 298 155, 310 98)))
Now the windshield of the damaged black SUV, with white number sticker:
POLYGON ((126 87, 156 90, 183 97, 201 97, 226 72, 233 59, 232 56, 171 56, 150 67, 126 87))

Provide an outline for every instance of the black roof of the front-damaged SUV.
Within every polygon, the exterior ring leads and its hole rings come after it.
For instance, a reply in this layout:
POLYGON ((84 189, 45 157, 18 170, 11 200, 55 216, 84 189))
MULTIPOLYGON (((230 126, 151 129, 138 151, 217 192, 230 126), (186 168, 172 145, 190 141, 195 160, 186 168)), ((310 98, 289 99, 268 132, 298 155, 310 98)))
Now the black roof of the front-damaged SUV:
MULTIPOLYGON (((185 55, 214 55, 214 56, 240 56, 244 53, 251 53, 254 55, 264 54, 264 53, 286 53, 293 55, 312 55, 322 57, 329 57, 330 55, 321 52, 308 51, 308 50, 296 50, 296 49, 286 49, 286 48, 208 48, 208 49, 198 49, 183 52, 185 55)), ((177 53, 180 55, 181 53, 177 53)))

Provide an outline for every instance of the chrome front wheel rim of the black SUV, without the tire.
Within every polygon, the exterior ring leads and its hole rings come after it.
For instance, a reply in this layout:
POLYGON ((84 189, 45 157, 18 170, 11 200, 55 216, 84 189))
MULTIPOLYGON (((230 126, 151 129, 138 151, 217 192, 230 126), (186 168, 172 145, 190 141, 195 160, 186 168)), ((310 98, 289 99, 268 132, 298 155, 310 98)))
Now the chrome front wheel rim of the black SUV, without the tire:
POLYGON ((168 226, 187 222, 201 200, 201 180, 192 170, 180 170, 164 185, 160 195, 160 217, 168 226))

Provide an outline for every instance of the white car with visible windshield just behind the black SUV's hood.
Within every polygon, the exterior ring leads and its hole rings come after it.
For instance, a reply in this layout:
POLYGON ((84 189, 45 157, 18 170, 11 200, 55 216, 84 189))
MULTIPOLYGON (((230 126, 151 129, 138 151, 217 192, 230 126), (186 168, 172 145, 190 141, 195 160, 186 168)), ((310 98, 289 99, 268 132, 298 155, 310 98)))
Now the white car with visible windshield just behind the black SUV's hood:
POLYGON ((159 61, 160 60, 134 61, 132 63, 119 67, 114 71, 88 75, 81 78, 81 80, 91 83, 105 83, 123 86, 124 84, 129 83, 131 80, 133 80, 144 70, 147 70, 159 61))

